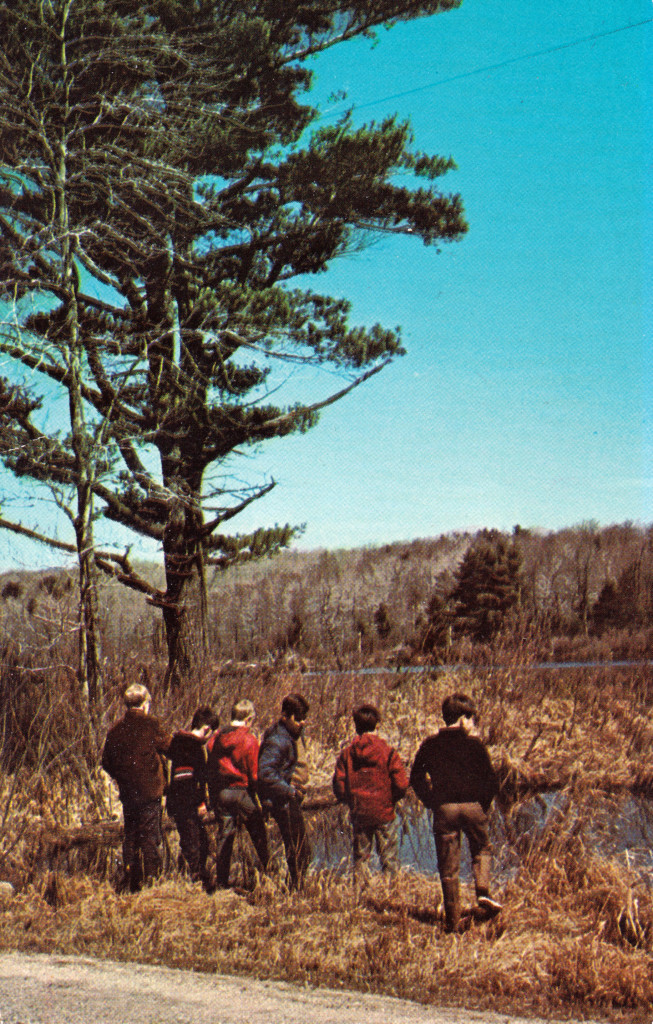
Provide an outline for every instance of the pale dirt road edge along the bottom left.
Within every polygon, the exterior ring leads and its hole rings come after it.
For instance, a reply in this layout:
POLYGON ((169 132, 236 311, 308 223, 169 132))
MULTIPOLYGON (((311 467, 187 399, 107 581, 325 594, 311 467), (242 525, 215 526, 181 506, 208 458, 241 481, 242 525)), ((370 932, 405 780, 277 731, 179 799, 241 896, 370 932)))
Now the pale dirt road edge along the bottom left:
POLYGON ((81 956, 2 953, 0 1024, 545 1022, 526 1021, 510 1014, 438 1010, 386 996, 301 988, 282 982, 115 964, 81 956))

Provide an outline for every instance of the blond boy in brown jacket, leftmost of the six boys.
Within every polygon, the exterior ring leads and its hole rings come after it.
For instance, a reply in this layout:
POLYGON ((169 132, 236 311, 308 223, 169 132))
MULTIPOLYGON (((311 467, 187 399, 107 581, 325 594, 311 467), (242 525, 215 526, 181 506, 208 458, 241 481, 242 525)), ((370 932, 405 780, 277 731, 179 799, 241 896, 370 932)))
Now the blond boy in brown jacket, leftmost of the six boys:
POLYGON ((144 882, 159 874, 163 863, 161 798, 166 776, 162 759, 172 737, 149 714, 151 697, 145 686, 133 683, 123 699, 127 710, 106 734, 101 764, 118 782, 123 805, 125 877, 121 888, 138 892, 144 882))

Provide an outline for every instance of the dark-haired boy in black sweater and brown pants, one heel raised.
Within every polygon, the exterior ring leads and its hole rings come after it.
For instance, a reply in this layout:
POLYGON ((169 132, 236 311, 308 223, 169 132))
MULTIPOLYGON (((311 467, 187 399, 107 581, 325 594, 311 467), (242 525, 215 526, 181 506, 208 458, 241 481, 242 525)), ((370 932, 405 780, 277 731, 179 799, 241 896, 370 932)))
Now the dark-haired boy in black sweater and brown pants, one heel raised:
POLYGON ((442 701, 445 728, 429 736, 418 751, 410 785, 433 811, 433 835, 448 932, 461 926, 461 833, 472 856, 478 911, 486 919, 502 909, 489 894, 490 845, 488 811, 498 791, 485 745, 475 729, 476 708, 466 693, 442 701))

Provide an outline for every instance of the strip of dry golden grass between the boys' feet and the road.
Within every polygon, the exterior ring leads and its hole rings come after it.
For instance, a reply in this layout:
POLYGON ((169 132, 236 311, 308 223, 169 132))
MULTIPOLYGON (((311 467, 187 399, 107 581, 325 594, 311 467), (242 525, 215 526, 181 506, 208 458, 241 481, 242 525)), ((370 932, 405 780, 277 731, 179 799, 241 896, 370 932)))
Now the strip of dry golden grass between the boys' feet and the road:
MULTIPOLYGON (((500 893, 495 923, 442 931, 434 878, 382 878, 356 899, 317 871, 304 892, 268 879, 208 897, 179 878, 137 896, 46 872, 0 904, 3 948, 92 954, 353 987, 494 1011, 649 1020, 653 901, 636 872, 553 822, 500 893)), ((466 893, 471 897, 471 893, 466 893)))

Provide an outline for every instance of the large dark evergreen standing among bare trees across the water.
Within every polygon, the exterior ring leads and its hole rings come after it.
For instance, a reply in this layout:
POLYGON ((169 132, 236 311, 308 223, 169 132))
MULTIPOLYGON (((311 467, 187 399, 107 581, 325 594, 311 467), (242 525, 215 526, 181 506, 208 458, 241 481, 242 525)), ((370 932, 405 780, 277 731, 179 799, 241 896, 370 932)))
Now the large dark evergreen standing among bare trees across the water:
POLYGON ((449 599, 462 632, 479 642, 496 635, 519 602, 521 564, 514 541, 483 530, 461 562, 449 599))

